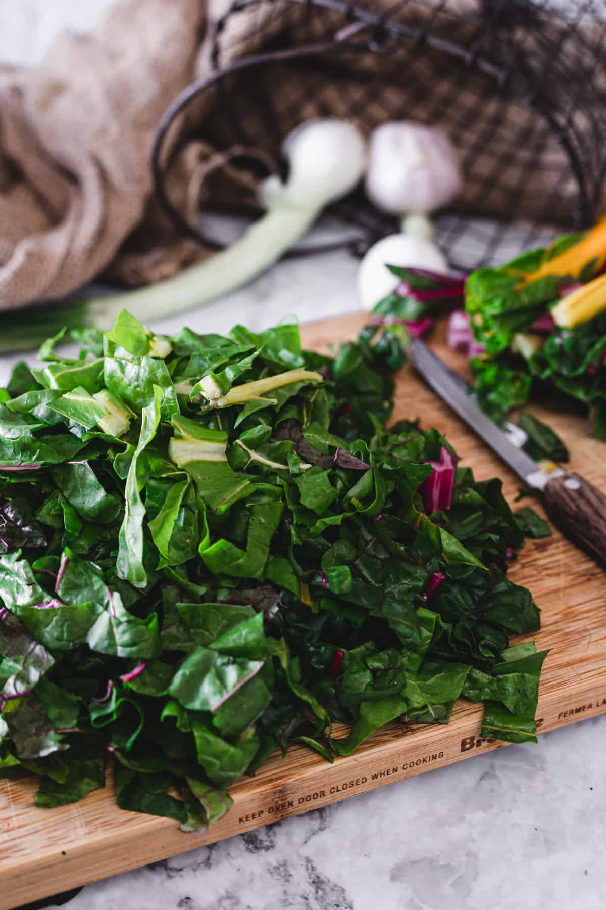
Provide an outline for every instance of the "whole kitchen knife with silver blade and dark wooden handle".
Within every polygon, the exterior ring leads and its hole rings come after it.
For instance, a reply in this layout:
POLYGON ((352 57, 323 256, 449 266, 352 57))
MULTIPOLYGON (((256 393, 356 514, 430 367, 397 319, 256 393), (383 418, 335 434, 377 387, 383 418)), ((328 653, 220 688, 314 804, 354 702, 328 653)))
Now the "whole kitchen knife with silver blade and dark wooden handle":
POLYGON ((531 490, 562 534, 606 567, 606 496, 575 471, 543 470, 519 449, 476 403, 472 387, 449 369, 421 339, 412 338, 408 354, 415 369, 440 398, 505 461, 531 490))

